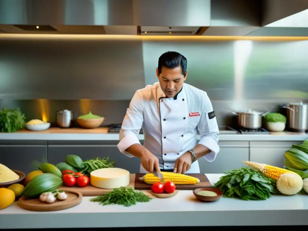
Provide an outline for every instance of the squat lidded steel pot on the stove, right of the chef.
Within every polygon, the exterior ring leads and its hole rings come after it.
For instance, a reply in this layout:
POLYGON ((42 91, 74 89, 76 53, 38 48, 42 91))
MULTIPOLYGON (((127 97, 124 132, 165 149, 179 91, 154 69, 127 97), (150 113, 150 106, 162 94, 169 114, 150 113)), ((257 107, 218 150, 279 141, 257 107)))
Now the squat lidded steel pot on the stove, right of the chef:
POLYGON ((258 112, 253 111, 251 108, 248 109, 248 111, 243 112, 234 112, 232 111, 234 115, 237 115, 237 121, 238 125, 243 128, 249 128, 249 129, 257 129, 261 128, 262 126, 262 116, 266 115, 268 112, 258 112))

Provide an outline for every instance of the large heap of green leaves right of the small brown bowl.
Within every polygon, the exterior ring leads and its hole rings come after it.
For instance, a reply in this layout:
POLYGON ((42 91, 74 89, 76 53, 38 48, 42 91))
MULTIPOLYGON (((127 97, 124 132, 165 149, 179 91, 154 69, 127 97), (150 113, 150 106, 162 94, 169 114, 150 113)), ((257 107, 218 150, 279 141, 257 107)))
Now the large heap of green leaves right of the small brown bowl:
POLYGON ((237 168, 224 171, 225 176, 213 186, 223 192, 224 197, 242 200, 266 200, 271 193, 277 193, 269 177, 251 168, 237 168))

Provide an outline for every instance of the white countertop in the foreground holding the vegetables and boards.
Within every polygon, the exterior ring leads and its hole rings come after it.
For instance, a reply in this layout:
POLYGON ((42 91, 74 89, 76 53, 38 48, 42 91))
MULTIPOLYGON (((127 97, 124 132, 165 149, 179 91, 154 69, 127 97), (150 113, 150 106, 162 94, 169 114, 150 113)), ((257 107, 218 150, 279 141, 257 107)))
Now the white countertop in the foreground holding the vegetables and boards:
MULTIPOLYGON (((213 185, 222 174, 206 174, 213 185)), ((190 190, 131 207, 102 206, 83 197, 81 204, 55 212, 33 212, 17 202, 0 210, 1 229, 308 225, 308 195, 273 195, 265 201, 224 198, 201 202, 190 190)))

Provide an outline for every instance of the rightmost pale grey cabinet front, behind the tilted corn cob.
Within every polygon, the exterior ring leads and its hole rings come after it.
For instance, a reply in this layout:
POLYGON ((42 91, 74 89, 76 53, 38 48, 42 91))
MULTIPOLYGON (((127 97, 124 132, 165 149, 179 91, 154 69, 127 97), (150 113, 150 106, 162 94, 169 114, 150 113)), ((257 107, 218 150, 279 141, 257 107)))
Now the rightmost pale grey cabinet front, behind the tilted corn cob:
POLYGON ((284 153, 292 144, 302 144, 302 141, 250 141, 249 160, 283 168, 284 153))

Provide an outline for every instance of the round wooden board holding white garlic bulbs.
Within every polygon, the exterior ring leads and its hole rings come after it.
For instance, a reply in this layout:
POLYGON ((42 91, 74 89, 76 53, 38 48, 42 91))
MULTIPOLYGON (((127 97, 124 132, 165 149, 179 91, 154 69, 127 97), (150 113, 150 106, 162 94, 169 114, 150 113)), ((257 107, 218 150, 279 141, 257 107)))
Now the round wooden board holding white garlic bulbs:
POLYGON ((75 192, 72 190, 65 190, 67 194, 66 200, 60 201, 56 200, 54 203, 48 204, 46 202, 42 202, 39 198, 30 198, 20 197, 18 200, 18 205, 23 209, 31 210, 31 211, 39 211, 39 212, 49 212, 49 211, 57 211, 62 209, 68 209, 79 205, 82 201, 82 194, 79 192, 75 192))

